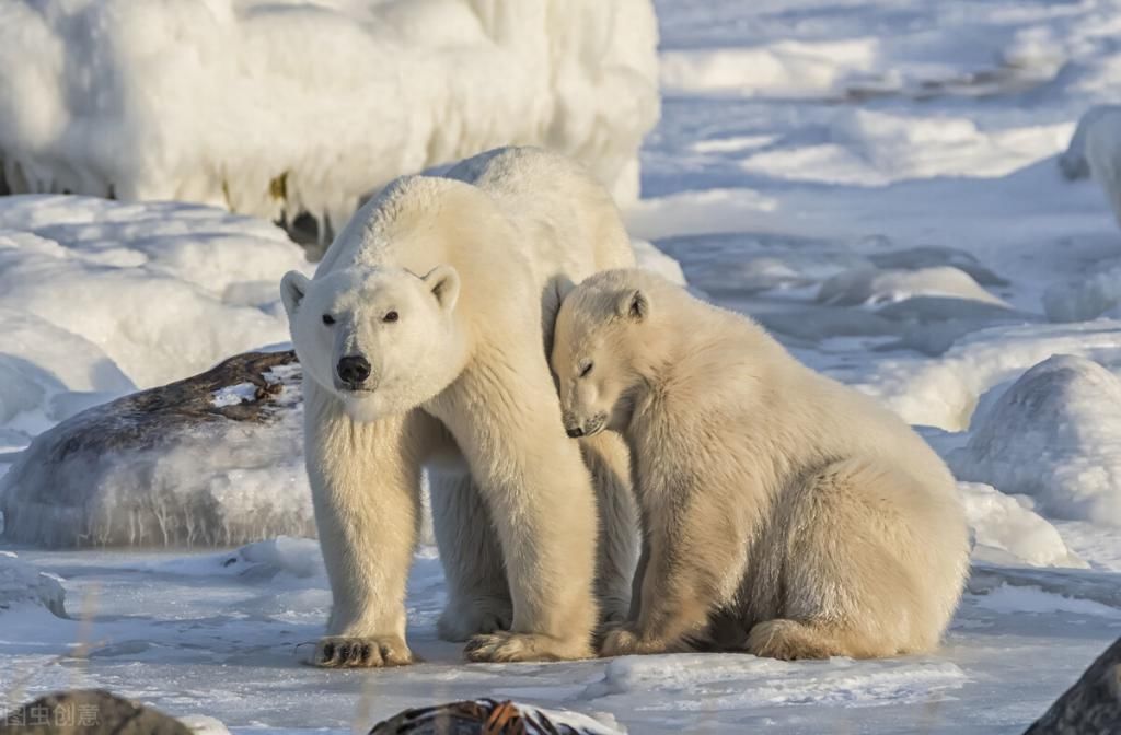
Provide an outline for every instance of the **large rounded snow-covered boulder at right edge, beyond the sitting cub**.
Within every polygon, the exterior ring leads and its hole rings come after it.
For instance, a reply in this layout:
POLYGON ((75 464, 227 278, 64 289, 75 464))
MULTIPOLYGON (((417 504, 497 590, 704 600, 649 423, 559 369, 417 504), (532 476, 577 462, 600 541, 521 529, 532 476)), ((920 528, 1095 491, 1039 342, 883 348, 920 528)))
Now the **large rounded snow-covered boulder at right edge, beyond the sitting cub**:
POLYGON ((1054 355, 975 416, 955 474, 1035 497, 1058 518, 1121 525, 1121 379, 1054 355))

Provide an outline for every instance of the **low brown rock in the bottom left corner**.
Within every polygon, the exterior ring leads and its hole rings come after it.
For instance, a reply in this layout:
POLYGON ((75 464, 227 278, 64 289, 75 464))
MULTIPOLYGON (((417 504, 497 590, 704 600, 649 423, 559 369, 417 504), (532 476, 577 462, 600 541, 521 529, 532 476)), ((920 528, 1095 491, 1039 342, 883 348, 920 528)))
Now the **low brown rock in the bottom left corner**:
POLYGON ((179 720, 101 689, 61 691, 0 713, 0 735, 191 735, 179 720))

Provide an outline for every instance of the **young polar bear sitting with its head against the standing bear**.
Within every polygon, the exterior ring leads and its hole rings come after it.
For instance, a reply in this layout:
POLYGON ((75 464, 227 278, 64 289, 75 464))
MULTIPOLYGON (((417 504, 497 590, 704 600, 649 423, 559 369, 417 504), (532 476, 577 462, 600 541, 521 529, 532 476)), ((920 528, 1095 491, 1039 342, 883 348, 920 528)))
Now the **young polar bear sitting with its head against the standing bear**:
POLYGON ((620 431, 633 457, 640 594, 603 654, 937 645, 967 532, 953 476, 902 420, 642 271, 585 280, 555 335, 568 435, 620 431))

